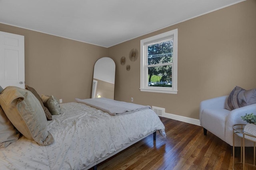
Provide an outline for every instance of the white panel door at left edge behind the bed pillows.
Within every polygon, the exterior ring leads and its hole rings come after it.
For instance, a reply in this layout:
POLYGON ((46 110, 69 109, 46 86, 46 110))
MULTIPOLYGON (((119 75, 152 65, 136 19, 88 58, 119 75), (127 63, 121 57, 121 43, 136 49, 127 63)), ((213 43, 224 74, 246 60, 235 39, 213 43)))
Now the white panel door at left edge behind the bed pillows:
POLYGON ((0 31, 0 85, 25 88, 24 36, 0 31))

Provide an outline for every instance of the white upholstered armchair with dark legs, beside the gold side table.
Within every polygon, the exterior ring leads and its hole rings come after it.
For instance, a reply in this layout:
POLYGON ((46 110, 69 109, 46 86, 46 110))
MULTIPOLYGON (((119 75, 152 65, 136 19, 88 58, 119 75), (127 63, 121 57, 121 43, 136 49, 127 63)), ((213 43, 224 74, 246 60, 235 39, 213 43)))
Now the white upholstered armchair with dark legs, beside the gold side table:
MULTIPOLYGON (((228 96, 221 96, 204 100, 200 103, 200 125, 204 128, 204 135, 207 130, 233 146, 233 128, 235 124, 247 124, 241 119, 245 113, 256 114, 256 104, 240 107, 232 111, 225 109, 228 96)), ((252 147, 253 143, 246 140, 246 147, 252 147)), ((235 147, 240 147, 240 138, 235 135, 235 147)))

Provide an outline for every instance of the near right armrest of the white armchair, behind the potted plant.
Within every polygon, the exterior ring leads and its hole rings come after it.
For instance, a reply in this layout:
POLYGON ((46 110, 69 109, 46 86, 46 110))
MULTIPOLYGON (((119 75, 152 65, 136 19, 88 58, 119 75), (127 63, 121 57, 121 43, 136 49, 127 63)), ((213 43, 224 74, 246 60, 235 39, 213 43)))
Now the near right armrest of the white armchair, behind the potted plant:
POLYGON ((231 143, 233 140, 233 125, 236 124, 247 124, 246 121, 242 120, 241 116, 244 116, 245 113, 250 114, 254 113, 256 115, 256 104, 251 104, 248 106, 240 107, 230 111, 226 121, 226 142, 231 143))

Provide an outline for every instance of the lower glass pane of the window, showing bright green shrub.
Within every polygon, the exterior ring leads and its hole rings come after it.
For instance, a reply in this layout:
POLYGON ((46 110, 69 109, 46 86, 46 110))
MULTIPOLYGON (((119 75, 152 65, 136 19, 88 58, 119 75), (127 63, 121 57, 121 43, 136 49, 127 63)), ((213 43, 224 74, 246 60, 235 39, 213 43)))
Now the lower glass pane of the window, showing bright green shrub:
POLYGON ((148 86, 172 87, 172 65, 148 67, 148 86))

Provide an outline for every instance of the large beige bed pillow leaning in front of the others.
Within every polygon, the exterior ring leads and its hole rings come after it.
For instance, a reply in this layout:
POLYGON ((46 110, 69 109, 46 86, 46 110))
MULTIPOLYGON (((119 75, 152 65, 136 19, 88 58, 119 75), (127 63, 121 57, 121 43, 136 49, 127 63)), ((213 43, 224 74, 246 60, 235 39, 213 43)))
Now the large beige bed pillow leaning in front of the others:
POLYGON ((47 119, 40 102, 32 92, 8 86, 0 95, 0 105, 16 129, 41 145, 54 142, 47 131, 47 119))

